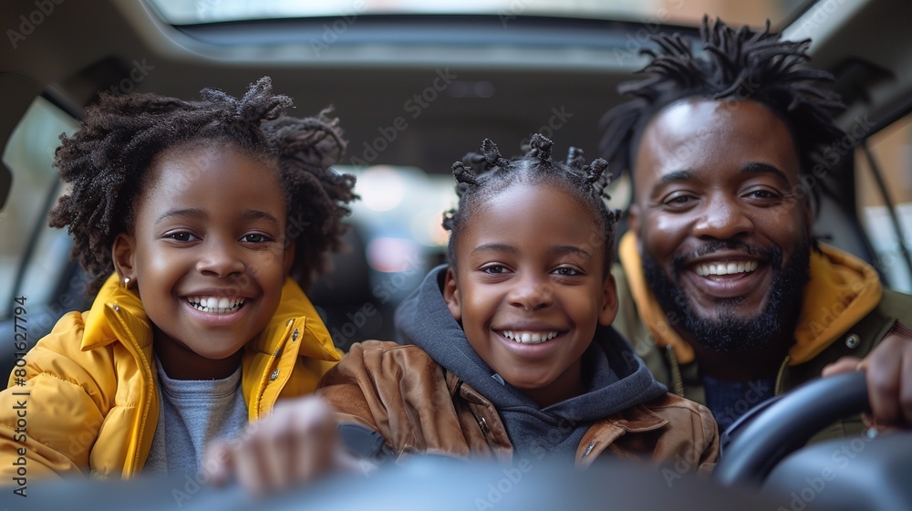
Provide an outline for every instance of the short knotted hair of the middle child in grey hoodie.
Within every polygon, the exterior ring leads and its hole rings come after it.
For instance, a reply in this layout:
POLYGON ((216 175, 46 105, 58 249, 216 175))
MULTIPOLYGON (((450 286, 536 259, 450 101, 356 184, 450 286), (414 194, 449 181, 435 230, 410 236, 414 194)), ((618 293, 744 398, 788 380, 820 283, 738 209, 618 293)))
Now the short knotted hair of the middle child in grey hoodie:
POLYGON ((596 158, 586 165, 583 151, 571 147, 566 162, 554 162, 551 150, 554 142, 544 135, 535 133, 529 145, 523 147, 525 154, 508 160, 501 155, 497 146, 489 139, 482 141, 480 152, 466 154, 460 162, 452 165, 456 177, 456 195, 459 205, 443 214, 443 228, 450 231, 447 247, 447 262, 456 271, 456 246, 459 235, 470 222, 472 214, 478 211, 494 195, 516 184, 550 184, 571 193, 576 200, 595 214, 597 231, 590 243, 603 244, 605 250, 605 275, 614 259, 615 227, 617 211, 608 211, 605 188, 611 181, 608 163, 596 158))

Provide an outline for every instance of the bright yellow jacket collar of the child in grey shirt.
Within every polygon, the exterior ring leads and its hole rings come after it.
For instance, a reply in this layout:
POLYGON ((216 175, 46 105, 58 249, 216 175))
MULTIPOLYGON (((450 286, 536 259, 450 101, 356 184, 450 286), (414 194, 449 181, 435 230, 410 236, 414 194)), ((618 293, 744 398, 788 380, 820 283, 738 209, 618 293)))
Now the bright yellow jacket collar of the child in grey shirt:
MULTIPOLYGON (((316 360, 339 360, 339 354, 332 338, 316 312, 316 308, 293 278, 286 278, 282 287, 282 299, 275 315, 269 320, 263 332, 247 343, 245 349, 273 354, 285 342, 285 330, 295 319, 300 319, 304 335, 298 353, 301 357, 316 360)), ((149 317, 142 308, 139 294, 133 289, 119 286, 118 276, 109 276, 98 291, 95 302, 86 318, 86 330, 81 349, 88 351, 121 340, 124 337, 117 330, 124 329, 136 339, 140 349, 146 349, 152 342, 149 317)), ((300 335, 300 334, 299 334, 300 335)), ((121 340, 122 341, 122 340, 121 340)))

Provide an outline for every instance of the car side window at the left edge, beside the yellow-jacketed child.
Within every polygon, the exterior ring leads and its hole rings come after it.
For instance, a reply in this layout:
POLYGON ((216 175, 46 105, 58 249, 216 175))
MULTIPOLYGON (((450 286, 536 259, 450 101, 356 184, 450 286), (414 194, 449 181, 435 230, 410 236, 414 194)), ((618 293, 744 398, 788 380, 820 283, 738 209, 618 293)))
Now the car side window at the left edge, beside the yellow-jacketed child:
MULTIPOLYGON (((13 173, 8 202, 0 214, 0 296, 3 303, 26 297, 47 304, 65 270, 72 241, 65 229, 47 226, 47 210, 63 187, 53 167, 60 134, 77 122, 47 99, 37 98, 6 143, 3 162, 13 173)), ((0 308, 9 318, 11 308, 0 308)))

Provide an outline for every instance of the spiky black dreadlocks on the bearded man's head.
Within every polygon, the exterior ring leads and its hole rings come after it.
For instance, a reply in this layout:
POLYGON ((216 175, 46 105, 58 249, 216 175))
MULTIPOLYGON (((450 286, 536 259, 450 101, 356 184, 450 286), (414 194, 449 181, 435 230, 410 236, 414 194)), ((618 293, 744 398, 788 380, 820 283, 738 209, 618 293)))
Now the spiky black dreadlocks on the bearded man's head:
MULTIPOLYGON (((832 115, 844 108, 839 96, 824 87, 833 75, 804 68, 810 59, 810 39, 780 40, 770 32, 770 22, 762 32, 742 26, 735 30, 721 20, 710 26, 708 16, 700 26, 705 53, 693 51, 690 38, 658 34, 652 39, 659 52, 644 49, 651 58, 640 73, 648 78, 621 84, 618 92, 635 99, 608 110, 602 118, 605 129, 602 154, 613 172, 630 172, 640 136, 648 121, 660 110, 680 99, 749 99, 775 113, 791 130, 801 172, 810 173, 816 165, 827 172, 834 162, 824 159, 824 150, 845 133, 832 115)), ((813 189, 814 197, 819 192, 813 189)))

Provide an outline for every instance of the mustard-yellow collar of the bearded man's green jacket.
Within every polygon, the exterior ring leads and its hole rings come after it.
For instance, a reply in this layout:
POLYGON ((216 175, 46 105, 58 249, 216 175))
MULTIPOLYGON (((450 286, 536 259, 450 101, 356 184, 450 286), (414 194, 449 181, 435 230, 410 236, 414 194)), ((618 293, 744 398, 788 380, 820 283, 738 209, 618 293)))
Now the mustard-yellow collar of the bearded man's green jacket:
MULTIPOLYGON (((659 346, 670 346, 680 363, 694 360, 694 351, 667 321, 658 300, 646 285, 637 235, 621 237, 617 250, 637 304, 637 311, 659 346)), ((854 255, 820 244, 810 258, 811 279, 804 288, 802 312, 795 328, 789 365, 813 359, 846 329, 876 308, 883 294, 875 269, 854 255)))

